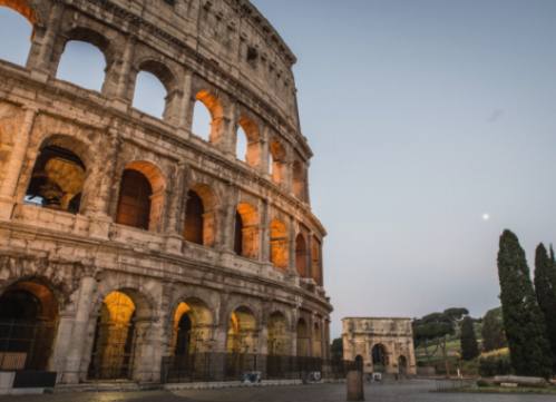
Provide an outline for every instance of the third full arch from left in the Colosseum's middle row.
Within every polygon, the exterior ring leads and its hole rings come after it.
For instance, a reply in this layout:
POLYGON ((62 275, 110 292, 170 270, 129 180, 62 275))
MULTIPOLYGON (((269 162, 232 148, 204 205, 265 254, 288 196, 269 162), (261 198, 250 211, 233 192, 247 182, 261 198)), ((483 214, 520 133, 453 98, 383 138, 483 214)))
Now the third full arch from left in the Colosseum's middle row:
POLYGON ((187 193, 185 206, 184 238, 186 242, 214 246, 215 242, 215 196, 206 185, 194 185, 187 193))

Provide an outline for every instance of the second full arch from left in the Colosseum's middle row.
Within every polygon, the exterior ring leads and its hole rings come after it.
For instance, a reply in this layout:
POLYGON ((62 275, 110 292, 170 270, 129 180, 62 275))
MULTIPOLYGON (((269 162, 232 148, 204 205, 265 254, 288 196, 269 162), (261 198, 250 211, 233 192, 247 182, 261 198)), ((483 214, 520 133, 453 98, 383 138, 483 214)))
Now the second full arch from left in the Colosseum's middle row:
POLYGON ((116 223, 156 232, 164 205, 165 180, 148 161, 128 164, 121 175, 116 223))

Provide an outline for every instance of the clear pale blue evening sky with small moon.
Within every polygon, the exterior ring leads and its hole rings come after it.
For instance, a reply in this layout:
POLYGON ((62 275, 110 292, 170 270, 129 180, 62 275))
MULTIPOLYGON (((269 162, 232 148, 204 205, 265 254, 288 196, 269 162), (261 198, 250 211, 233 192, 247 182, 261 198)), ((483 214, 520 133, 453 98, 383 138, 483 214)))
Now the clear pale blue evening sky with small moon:
MULTIPOLYGON (((253 2, 300 59, 332 335, 343 316, 497 306, 501 231, 529 264, 556 243, 556 1, 253 2)), ((16 57, 25 24, 6 14, 16 57)), ((80 56, 61 68, 94 87, 80 56)))

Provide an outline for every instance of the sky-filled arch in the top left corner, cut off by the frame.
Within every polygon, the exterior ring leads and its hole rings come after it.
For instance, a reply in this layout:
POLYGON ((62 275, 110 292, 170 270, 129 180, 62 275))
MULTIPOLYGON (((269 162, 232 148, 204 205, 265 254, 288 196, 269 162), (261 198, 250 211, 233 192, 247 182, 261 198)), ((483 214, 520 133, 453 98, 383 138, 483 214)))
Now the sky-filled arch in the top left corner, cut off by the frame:
POLYGON ((36 22, 35 11, 27 1, 0 0, 0 38, 9 38, 2 40, 0 59, 26 66, 36 22))

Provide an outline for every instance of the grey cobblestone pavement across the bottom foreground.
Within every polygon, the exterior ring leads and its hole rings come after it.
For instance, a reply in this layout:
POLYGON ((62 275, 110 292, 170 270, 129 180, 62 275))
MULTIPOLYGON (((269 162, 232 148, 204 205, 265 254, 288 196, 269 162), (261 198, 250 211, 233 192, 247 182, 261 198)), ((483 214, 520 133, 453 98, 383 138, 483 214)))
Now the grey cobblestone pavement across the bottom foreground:
MULTIPOLYGON (((554 402, 554 395, 486 395, 431 393, 435 383, 414 381, 367 386, 370 402, 554 402)), ((343 402, 345 385, 225 389, 213 391, 165 391, 129 393, 68 393, 0 396, 0 402, 343 402)))

